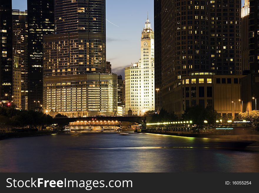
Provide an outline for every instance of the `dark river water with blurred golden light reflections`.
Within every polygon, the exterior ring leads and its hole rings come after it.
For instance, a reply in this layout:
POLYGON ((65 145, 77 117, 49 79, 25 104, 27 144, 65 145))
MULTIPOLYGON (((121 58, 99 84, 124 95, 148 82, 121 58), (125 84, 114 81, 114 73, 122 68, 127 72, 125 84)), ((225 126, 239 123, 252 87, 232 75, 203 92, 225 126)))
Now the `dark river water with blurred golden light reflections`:
POLYGON ((259 172, 259 144, 147 133, 64 133, 0 140, 0 172, 259 172))

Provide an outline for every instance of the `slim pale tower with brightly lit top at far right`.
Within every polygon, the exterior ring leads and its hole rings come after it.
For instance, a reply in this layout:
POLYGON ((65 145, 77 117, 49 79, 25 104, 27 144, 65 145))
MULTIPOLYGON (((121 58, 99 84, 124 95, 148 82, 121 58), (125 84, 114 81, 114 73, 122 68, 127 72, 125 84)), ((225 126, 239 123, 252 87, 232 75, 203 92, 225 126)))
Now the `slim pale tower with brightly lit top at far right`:
POLYGON ((243 74, 249 73, 249 48, 248 48, 248 16, 249 16, 249 0, 245 0, 245 5, 241 9, 241 30, 242 30, 242 70, 243 74))

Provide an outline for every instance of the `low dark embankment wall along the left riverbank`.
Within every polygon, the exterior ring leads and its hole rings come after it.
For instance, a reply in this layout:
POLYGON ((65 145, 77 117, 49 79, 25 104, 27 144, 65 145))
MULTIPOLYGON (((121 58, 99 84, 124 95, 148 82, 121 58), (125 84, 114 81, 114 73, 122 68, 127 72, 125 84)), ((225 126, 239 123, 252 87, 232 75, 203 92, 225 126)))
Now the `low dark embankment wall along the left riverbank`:
POLYGON ((33 131, 33 132, 9 132, 9 133, 0 133, 0 140, 15 138, 15 137, 30 137, 30 136, 39 136, 39 135, 50 135, 57 134, 57 131, 33 131))

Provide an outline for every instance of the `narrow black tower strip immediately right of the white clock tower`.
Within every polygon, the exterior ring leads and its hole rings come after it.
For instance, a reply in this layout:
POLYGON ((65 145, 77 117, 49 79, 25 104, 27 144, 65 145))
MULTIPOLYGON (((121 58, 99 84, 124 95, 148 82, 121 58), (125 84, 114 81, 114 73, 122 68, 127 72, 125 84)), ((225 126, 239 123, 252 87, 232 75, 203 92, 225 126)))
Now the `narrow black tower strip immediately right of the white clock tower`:
POLYGON ((155 112, 162 107, 162 48, 161 48, 161 0, 154 0, 155 38, 155 112))

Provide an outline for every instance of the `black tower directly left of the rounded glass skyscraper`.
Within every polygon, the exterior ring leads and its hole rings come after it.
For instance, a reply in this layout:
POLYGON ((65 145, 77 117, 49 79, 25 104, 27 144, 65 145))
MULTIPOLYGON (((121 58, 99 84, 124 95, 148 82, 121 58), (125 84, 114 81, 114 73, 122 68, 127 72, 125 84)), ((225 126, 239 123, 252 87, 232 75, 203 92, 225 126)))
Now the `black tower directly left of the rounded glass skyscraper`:
POLYGON ((54 0, 27 0, 28 8, 28 109, 42 104, 42 38, 54 34, 54 0), (34 102, 36 101, 36 102, 34 102), (40 101, 37 103, 37 101, 40 101))

